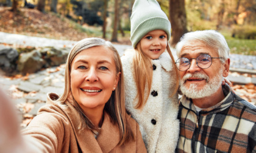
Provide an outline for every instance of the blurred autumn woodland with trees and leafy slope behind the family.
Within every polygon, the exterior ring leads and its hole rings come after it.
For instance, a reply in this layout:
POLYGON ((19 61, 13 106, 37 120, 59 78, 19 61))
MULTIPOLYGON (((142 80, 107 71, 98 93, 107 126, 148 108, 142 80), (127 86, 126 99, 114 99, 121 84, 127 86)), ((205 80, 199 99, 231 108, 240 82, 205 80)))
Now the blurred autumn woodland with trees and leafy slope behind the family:
MULTIPOLYGON (((75 41, 96 36, 130 44, 133 2, 0 0, 0 30, 75 41)), ((256 0, 158 0, 158 3, 171 21, 173 47, 186 32, 213 29, 226 37, 231 53, 256 55, 256 0)))

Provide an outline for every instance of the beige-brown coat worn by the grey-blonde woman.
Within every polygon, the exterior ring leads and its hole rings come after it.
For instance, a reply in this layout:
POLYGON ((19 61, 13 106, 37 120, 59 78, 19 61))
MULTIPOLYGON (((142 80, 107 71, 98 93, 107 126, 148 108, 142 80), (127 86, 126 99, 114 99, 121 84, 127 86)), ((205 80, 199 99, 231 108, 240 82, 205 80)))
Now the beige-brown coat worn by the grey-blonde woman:
POLYGON ((129 117, 135 141, 117 146, 119 129, 105 113, 104 122, 97 138, 88 129, 79 131, 79 113, 69 101, 60 106, 48 94, 46 105, 23 130, 25 137, 43 152, 146 152, 138 123, 129 117))

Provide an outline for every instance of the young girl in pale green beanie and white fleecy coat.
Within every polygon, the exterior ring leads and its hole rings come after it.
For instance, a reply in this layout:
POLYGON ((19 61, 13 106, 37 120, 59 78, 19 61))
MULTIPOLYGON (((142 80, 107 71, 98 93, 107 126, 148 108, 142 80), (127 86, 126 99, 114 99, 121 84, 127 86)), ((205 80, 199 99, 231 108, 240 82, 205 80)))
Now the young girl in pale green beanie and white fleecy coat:
POLYGON ((148 152, 174 152, 179 78, 168 44, 171 24, 155 0, 136 0, 132 9, 130 40, 135 52, 121 57, 126 109, 140 124, 148 152))

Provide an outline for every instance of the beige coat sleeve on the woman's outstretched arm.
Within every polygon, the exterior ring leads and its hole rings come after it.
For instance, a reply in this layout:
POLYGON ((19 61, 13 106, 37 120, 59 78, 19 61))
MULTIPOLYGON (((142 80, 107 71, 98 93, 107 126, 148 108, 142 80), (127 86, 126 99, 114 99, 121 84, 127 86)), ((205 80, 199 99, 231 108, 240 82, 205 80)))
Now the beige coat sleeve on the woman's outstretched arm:
POLYGON ((28 143, 41 152, 59 152, 65 135, 64 124, 65 120, 60 114, 43 112, 29 123, 22 134, 28 143))

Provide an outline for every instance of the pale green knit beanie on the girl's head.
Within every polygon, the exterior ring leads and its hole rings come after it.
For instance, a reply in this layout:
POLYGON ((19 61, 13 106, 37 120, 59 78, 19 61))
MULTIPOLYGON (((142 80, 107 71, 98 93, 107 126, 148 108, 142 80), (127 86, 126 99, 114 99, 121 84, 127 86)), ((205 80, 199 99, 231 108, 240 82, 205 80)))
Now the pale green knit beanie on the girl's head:
POLYGON ((130 41, 135 48, 152 30, 164 30, 171 37, 171 23, 156 0, 135 0, 130 16, 130 41))

